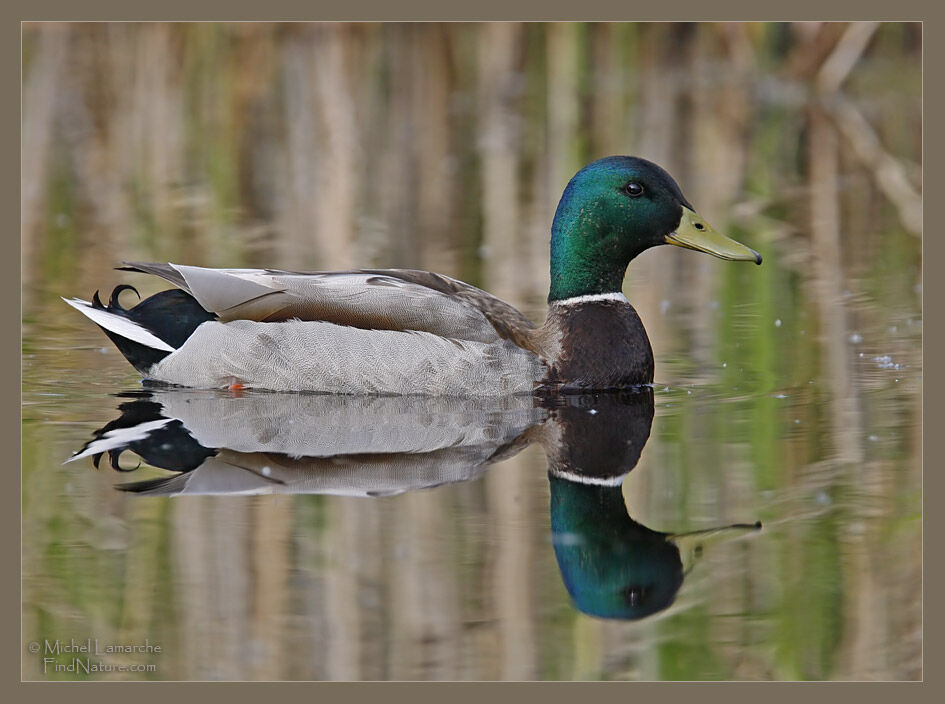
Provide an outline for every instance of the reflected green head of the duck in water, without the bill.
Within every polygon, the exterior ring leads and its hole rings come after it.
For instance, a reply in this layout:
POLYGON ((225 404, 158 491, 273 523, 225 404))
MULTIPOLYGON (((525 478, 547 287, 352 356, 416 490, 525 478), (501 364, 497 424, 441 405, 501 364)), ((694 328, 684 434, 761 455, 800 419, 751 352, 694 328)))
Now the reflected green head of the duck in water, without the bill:
POLYGON ((630 518, 619 484, 549 481, 555 557, 578 609, 638 619, 673 603, 683 582, 679 549, 630 518))

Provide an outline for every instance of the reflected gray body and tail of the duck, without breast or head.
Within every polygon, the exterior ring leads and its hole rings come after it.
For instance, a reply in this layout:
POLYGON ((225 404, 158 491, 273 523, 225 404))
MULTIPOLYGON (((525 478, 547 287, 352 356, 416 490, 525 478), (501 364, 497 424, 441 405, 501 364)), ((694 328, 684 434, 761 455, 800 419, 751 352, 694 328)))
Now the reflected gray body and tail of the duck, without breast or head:
MULTIPOLYGON (((523 396, 250 392, 234 397, 162 389, 131 405, 135 403, 159 405, 160 411, 137 425, 119 423, 100 433, 69 461, 111 451, 154 449, 155 437, 174 443, 175 437, 181 441, 188 436, 184 449, 177 446, 178 452, 171 454, 175 457, 188 457, 186 447, 191 443, 214 448, 192 471, 146 480, 135 488, 162 495, 389 496, 470 481, 493 462, 524 447, 519 437, 547 416, 534 399, 523 396), (174 421, 181 426, 177 435, 166 434, 177 425, 174 421)), ((161 457, 168 457, 166 451, 161 457)))

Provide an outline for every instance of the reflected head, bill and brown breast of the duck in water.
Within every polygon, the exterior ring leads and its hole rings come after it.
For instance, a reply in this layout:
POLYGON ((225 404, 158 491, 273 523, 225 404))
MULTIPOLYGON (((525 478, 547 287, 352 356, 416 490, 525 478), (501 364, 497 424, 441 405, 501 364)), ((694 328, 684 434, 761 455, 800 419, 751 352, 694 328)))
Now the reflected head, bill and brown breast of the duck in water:
MULTIPOLYGON (((627 512, 623 482, 650 436, 653 390, 563 396, 555 435, 542 444, 551 483, 551 533, 565 587, 578 609, 600 618, 639 619, 673 603, 684 577, 680 548, 755 530, 735 524, 686 534, 661 533, 627 512)), ((686 556, 687 558, 690 555, 686 556)))

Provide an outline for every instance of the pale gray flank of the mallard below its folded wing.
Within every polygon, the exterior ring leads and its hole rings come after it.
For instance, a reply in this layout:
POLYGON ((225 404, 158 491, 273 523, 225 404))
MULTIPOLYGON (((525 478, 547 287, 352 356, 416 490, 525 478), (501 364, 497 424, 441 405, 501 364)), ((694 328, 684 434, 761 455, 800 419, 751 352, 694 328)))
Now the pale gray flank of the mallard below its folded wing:
POLYGON ((148 376, 194 388, 493 396, 531 393, 543 373, 537 356, 508 340, 235 320, 204 323, 148 376))

